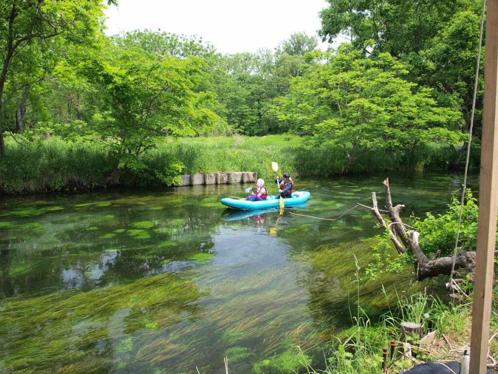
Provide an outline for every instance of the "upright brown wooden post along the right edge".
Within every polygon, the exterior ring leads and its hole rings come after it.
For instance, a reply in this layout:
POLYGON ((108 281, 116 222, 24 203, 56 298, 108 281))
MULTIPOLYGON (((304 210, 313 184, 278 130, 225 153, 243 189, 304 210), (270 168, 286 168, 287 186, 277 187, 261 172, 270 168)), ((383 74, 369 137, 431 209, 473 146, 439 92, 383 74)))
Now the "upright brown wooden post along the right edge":
POLYGON ((483 140, 470 373, 486 373, 498 213, 498 0, 488 0, 483 140))

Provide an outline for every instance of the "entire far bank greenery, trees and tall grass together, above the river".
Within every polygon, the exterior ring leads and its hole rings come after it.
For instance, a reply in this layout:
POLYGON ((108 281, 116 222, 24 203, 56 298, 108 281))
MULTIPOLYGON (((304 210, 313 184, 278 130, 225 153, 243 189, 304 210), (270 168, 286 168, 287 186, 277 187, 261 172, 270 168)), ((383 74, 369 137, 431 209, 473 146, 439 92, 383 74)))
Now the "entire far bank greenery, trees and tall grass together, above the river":
POLYGON ((200 37, 106 36, 100 0, 3 1, 0 191, 269 177, 271 161, 307 178, 461 167, 481 2, 329 3, 318 37, 347 35, 338 49, 295 33, 222 55, 200 37))

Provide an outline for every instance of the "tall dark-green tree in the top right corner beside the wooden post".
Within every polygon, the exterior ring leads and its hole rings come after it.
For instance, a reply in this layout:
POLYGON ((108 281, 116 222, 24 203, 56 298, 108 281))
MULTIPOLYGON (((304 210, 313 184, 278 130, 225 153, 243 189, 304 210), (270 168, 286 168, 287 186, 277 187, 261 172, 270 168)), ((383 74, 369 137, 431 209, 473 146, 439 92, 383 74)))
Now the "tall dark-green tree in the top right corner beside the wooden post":
MULTIPOLYGON (((463 131, 468 131, 482 1, 329 0, 329 3, 321 12, 319 34, 324 40, 348 34, 352 44, 365 55, 387 52, 398 57, 410 70, 409 81, 435 89, 433 96, 438 103, 461 107, 465 119, 463 131)), ((481 83, 475 117, 476 141, 480 136, 482 87, 481 83)), ((458 166, 466 148, 464 142, 453 167, 458 166)))

